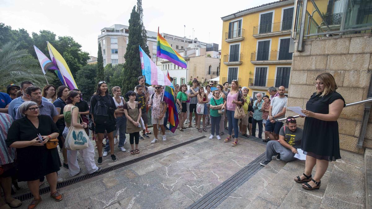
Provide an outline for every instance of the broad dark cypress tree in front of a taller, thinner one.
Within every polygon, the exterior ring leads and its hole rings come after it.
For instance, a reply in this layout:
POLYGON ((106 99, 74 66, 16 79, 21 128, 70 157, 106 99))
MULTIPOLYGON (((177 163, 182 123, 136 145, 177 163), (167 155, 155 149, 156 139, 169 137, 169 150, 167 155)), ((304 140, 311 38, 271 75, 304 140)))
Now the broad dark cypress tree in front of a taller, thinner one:
MULTIPOLYGON (((126 93, 133 90, 138 84, 137 78, 142 74, 139 45, 143 44, 142 26, 140 24, 140 14, 136 12, 134 6, 129 19, 128 45, 124 55, 125 64, 123 70, 122 92, 126 93)), ((143 47, 143 45, 141 45, 143 47)))

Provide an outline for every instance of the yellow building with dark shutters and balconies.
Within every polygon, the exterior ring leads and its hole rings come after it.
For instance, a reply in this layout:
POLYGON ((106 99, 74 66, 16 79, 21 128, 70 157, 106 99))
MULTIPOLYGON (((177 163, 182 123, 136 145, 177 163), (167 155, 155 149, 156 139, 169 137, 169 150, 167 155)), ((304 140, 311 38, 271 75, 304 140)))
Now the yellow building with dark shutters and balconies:
POLYGON ((219 83, 238 80, 253 97, 271 86, 288 88, 293 12, 294 0, 282 0, 222 17, 219 83))

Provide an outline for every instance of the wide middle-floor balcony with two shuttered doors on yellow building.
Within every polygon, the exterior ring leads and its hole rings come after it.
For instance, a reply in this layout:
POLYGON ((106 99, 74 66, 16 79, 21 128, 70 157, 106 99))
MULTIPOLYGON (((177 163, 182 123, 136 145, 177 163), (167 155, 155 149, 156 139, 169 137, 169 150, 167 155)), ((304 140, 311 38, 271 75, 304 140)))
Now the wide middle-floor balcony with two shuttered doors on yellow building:
POLYGON ((252 64, 291 64, 292 54, 288 50, 260 51, 251 53, 252 64))

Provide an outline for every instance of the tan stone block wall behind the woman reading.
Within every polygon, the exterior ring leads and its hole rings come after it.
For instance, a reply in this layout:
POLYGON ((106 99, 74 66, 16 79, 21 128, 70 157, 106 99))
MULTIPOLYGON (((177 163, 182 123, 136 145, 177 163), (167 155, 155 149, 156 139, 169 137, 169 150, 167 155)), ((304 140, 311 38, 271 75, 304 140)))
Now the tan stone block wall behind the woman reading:
MULTIPOLYGON (((304 51, 296 51, 292 61, 289 81, 288 106, 306 107, 310 96, 316 91, 315 77, 327 72, 334 76, 337 92, 346 103, 367 98, 372 70, 371 33, 323 37, 304 41, 304 51)), ((364 105, 346 107, 338 120, 340 148, 362 153, 357 149, 364 105)), ((297 115, 287 110, 286 116, 297 115)), ((304 119, 298 119, 303 126, 304 119)), ((372 114, 369 116, 364 147, 372 148, 372 114)))

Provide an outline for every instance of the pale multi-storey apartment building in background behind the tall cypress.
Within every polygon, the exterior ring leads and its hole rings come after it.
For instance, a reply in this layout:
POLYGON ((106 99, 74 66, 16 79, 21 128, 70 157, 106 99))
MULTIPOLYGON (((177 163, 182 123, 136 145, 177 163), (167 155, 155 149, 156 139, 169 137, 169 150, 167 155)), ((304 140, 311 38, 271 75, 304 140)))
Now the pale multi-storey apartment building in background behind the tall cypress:
MULTIPOLYGON (((101 43, 103 65, 124 63, 126 45, 128 44, 129 26, 115 24, 108 28, 101 29, 98 36, 98 42, 101 43)), ((183 49, 189 44, 198 45, 205 49, 206 43, 197 39, 187 39, 185 37, 175 36, 168 33, 161 33, 174 50, 183 49)), ((147 30, 147 45, 150 49, 151 59, 156 61, 157 32, 147 30)))

